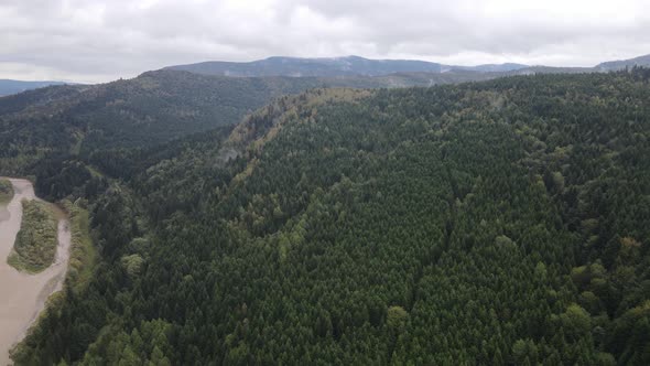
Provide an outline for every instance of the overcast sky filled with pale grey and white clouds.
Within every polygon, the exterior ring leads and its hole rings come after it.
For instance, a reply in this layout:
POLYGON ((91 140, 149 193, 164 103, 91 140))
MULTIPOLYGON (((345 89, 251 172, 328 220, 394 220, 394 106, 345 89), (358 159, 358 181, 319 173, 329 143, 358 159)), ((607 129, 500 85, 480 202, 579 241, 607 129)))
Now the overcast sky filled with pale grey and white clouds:
POLYGON ((0 78, 101 83, 269 56, 594 66, 650 53, 650 0, 0 0, 0 78))

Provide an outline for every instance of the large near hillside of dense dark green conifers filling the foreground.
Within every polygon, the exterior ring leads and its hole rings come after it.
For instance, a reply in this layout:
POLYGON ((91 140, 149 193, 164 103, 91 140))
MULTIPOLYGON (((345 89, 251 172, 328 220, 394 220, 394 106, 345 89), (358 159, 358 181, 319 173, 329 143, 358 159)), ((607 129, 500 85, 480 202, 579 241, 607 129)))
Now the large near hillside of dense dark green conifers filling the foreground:
POLYGON ((650 364, 649 79, 315 89, 104 164, 56 194, 95 276, 13 359, 650 364))

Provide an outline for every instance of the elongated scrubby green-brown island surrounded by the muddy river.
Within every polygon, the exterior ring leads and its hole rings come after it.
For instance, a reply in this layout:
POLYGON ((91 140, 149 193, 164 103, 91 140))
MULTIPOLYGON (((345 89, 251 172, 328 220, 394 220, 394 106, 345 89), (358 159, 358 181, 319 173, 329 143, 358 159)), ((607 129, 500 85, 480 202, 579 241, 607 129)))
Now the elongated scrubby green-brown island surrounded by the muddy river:
POLYGON ((25 200, 22 208, 22 223, 7 262, 21 271, 41 272, 56 255, 57 220, 47 203, 25 200))

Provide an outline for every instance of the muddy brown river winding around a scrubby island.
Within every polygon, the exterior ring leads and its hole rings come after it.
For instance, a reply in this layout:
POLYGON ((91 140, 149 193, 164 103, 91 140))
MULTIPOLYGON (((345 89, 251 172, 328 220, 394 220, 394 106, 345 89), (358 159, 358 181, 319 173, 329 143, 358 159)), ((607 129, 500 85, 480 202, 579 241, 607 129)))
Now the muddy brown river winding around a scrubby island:
POLYGON ((52 266, 37 274, 22 273, 7 263, 22 219, 22 200, 40 200, 32 183, 9 179, 15 192, 0 204, 0 365, 10 364, 9 349, 20 342, 44 309, 50 295, 63 288, 69 258, 71 233, 65 213, 58 216, 58 247, 52 266))

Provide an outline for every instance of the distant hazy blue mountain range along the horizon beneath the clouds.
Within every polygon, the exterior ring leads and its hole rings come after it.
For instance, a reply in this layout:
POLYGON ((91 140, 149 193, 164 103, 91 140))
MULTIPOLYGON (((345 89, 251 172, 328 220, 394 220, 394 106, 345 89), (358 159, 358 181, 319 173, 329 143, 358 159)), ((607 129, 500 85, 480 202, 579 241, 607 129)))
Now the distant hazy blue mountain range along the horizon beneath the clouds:
MULTIPOLYGON (((593 67, 531 66, 517 63, 459 66, 418 60, 370 60, 359 56, 313 58, 273 56, 252 62, 207 61, 186 65, 172 65, 163 69, 227 77, 321 77, 329 79, 326 80, 326 84, 332 84, 332 78, 335 78, 337 80, 334 84, 346 84, 338 86, 405 87, 484 80, 511 75, 610 72, 635 65, 650 65, 650 55, 604 62, 593 67), (360 83, 361 85, 358 85, 359 77, 375 77, 376 79, 372 82, 364 80, 360 83), (351 79, 342 82, 342 78, 351 79), (366 83, 373 85, 365 85, 366 83)), ((69 83, 0 79, 0 97, 64 84, 69 83)))

